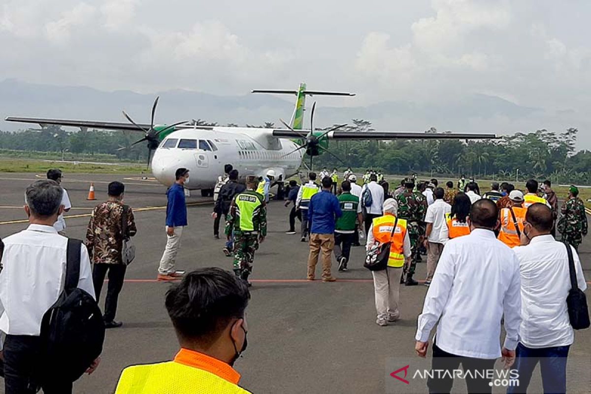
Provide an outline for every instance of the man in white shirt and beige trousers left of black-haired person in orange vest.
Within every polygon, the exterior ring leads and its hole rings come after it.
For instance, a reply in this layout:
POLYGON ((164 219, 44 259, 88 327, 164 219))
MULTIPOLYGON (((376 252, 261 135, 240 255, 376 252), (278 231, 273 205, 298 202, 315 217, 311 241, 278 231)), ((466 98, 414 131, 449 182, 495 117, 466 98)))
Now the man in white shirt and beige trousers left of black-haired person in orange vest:
POLYGON ((433 195, 435 196, 435 202, 428 206, 425 216, 425 223, 427 223, 424 240, 424 246, 427 248, 427 280, 425 286, 431 285, 431 278, 433 278, 439 257, 443 252, 443 246, 448 240, 443 231, 447 227, 445 215, 452 211, 452 206, 443 201, 445 195, 443 188, 436 188, 433 195))

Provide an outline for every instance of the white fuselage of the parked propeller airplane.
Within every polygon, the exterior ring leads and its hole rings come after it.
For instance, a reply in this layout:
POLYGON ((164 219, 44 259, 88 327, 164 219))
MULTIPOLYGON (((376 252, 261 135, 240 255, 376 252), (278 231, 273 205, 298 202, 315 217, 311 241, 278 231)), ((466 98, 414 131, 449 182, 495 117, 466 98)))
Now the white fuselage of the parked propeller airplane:
POLYGON ((155 150, 152 173, 160 183, 170 186, 177 168, 188 168, 190 177, 185 186, 189 189, 213 188, 225 164, 232 164, 241 179, 274 170, 276 179, 283 175, 285 180, 297 173, 304 152, 301 149, 290 154, 298 145, 271 133, 270 129, 224 127, 175 131, 155 150))

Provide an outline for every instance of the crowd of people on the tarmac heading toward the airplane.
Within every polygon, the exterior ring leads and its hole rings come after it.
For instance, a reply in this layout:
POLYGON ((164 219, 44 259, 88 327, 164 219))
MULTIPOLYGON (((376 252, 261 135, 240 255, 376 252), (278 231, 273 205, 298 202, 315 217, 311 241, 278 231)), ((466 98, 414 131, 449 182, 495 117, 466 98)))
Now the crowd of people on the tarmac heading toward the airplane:
MULTIPOLYGON (((180 351, 172 362, 132 366, 124 370, 116 393, 160 392, 176 379, 170 392, 203 388, 206 392, 246 392, 232 366, 246 349, 245 309, 250 298, 248 278, 255 252, 267 236, 267 204, 275 172, 264 177, 247 175, 245 184, 232 165, 220 176, 212 217, 214 236, 225 223, 223 253, 233 256, 233 274, 203 268, 185 274, 176 269, 183 229, 187 226, 184 184, 189 170, 178 168, 176 183, 167 191, 165 232, 167 243, 158 267, 158 281, 176 281, 165 305, 177 333, 180 351), (223 220, 223 222, 222 222, 223 220), (178 282, 180 281, 180 282, 178 282)), ((47 180, 31 184, 25 192, 30 226, 4 239, 0 271, 0 331, 5 392, 72 392, 72 379, 42 379, 38 360, 47 344, 42 335, 46 311, 64 289, 70 272, 72 249, 63 212, 72 207, 60 183, 60 170, 47 172, 47 180)), ((282 182, 282 181, 281 181, 282 182)), ((301 241, 309 246, 307 276, 335 282, 333 255, 339 272, 352 263, 351 250, 365 243, 368 253, 389 244, 384 269, 372 271, 376 324, 387 326, 401 318, 400 285, 416 286, 417 263, 427 256, 424 285, 428 286, 418 317, 415 350, 425 357, 430 332, 433 369, 491 369, 504 357, 515 365, 525 392, 536 364, 541 363, 545 392, 566 392, 566 360, 574 341, 566 298, 572 288, 586 289, 577 249, 587 234, 584 203, 575 186, 559 209, 550 181, 528 180, 524 190, 493 182, 480 194, 475 180, 462 175, 457 183, 438 186, 417 175, 389 190, 380 172, 368 170, 358 177, 348 168, 339 183, 337 170, 310 172, 302 185, 290 180, 285 207, 290 207, 288 235, 301 221, 301 241), (320 178, 320 179, 319 179, 320 178), (525 193, 524 193, 525 192, 525 193), (556 240, 556 230, 562 241, 556 240), (566 246, 565 246, 566 245, 566 246), (571 278, 574 272, 574 279, 571 278), (501 324, 504 346, 499 347, 501 324)), ((134 213, 124 204, 125 185, 108 185, 108 199, 90 216, 80 250, 77 288, 98 301, 108 280, 104 328, 121 327, 116 321, 118 295, 124 285, 131 237, 137 234, 134 213)), ((359 262, 362 265, 362 262, 359 262)), ((98 367, 96 357, 85 365, 98 367)), ((476 374, 478 375, 478 374, 476 374)), ((475 376, 476 376, 475 375, 475 376)), ((453 376, 430 378, 430 392, 449 392, 453 376)), ((491 392, 485 377, 467 379, 469 392, 491 392)), ((168 391, 167 391, 168 392, 168 391)))

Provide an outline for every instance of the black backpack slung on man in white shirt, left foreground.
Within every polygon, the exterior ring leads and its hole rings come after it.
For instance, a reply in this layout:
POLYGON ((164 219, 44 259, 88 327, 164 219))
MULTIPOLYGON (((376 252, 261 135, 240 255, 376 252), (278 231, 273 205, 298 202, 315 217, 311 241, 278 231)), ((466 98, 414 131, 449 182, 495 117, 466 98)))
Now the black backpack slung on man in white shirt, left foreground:
POLYGON ((81 246, 80 240, 68 240, 66 283, 41 321, 37 368, 41 380, 61 376, 74 382, 103 350, 105 323, 99 305, 92 295, 77 288, 81 246))

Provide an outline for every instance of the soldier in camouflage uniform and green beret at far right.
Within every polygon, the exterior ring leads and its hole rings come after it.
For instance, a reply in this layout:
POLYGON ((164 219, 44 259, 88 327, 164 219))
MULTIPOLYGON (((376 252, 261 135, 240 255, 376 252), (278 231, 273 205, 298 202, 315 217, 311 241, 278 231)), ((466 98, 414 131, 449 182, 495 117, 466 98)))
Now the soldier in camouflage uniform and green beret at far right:
POLYGON ((587 235, 587 214, 585 204, 579 197, 579 189, 571 186, 569 198, 562 204, 562 217, 558 220, 558 231, 562 234, 562 240, 570 243, 574 249, 578 249, 583 237, 587 235))

